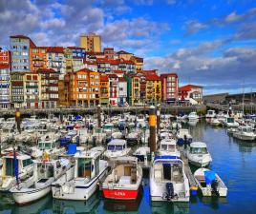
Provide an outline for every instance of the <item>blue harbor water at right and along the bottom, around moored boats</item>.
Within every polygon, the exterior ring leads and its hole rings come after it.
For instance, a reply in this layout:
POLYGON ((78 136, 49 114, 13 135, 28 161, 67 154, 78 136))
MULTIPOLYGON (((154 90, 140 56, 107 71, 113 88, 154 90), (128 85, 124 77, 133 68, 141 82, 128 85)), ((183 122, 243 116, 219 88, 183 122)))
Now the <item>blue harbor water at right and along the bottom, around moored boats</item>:
MULTIPOLYGON (((216 171, 227 185, 226 198, 202 197, 199 194, 187 204, 168 202, 151 203, 148 177, 144 176, 143 189, 134 202, 109 201, 97 192, 88 202, 53 200, 51 195, 33 204, 14 204, 11 195, 0 195, 0 214, 53 214, 53 213, 256 213, 256 144, 236 140, 222 127, 200 121, 197 125, 184 124, 191 131, 194 141, 207 144, 216 171)), ((192 168, 192 170, 195 168, 192 168)))

